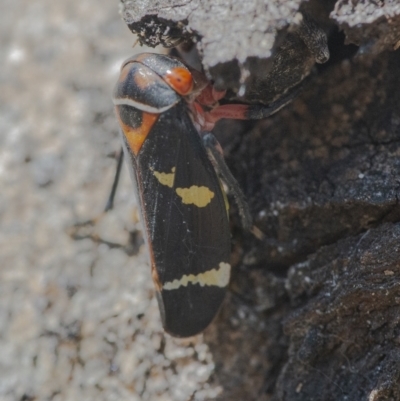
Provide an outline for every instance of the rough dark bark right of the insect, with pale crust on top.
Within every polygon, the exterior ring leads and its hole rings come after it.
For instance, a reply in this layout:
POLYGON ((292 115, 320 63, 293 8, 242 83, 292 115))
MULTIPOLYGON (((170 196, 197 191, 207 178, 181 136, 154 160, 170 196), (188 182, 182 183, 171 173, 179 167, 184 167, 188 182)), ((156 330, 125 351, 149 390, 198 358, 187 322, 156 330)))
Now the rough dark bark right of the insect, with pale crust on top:
MULTIPOLYGON (((232 68, 262 75, 256 57, 273 63, 301 6, 273 3, 125 2, 124 16, 147 43, 168 26, 195 37, 203 67, 237 89, 232 68)), ((304 7, 331 61, 273 118, 216 130, 267 239, 233 216, 231 292, 206 332, 213 380, 221 400, 400 400, 400 5, 304 7)))

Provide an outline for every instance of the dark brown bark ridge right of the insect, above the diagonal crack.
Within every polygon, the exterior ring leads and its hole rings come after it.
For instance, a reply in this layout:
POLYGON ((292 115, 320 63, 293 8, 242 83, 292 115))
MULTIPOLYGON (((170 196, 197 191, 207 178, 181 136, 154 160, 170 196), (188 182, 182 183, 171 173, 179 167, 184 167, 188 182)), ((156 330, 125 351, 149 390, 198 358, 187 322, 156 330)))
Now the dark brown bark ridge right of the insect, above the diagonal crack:
POLYGON ((252 264, 287 265, 399 219, 398 62, 398 53, 344 60, 242 139, 235 173, 276 241, 255 247, 252 264))

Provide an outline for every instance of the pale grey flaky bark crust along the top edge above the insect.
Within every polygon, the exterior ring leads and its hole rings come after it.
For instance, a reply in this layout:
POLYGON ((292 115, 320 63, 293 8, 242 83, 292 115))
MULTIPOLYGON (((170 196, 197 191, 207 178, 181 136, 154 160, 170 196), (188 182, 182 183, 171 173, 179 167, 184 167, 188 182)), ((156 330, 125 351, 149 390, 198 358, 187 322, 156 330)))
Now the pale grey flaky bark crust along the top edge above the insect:
MULTIPOLYGON (((318 4, 304 0, 120 0, 122 15, 140 40, 150 46, 192 38, 208 69, 233 59, 268 58, 284 35, 296 25, 300 6, 320 10, 333 7, 331 18, 343 29, 348 43, 378 54, 400 46, 400 4, 397 0, 333 0, 318 4), (311 6, 310 6, 311 4, 311 6)), ((323 18, 326 24, 326 18, 323 18)))

